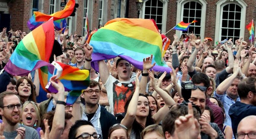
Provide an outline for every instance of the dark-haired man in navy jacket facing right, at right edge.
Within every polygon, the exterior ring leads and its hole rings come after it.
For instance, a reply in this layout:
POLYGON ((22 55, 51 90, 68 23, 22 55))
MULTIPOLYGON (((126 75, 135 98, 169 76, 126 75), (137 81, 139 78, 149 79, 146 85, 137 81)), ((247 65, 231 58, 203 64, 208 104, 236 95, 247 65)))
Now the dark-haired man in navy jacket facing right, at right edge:
MULTIPOLYGON (((239 122, 246 116, 256 114, 256 78, 246 78, 238 85, 240 102, 232 105, 228 114, 232 121, 233 134, 237 133, 239 122)), ((255 123, 254 123, 255 124, 255 123)))

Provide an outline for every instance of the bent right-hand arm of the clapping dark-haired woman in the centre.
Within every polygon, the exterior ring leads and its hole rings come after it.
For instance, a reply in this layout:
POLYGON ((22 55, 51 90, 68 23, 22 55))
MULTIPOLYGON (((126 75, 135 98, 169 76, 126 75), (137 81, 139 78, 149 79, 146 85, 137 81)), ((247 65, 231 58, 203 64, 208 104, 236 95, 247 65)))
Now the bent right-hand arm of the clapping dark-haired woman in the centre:
MULTIPOLYGON (((153 71, 153 70, 152 70, 153 71)), ((172 105, 175 105, 176 103, 171 98, 171 96, 164 90, 162 90, 160 87, 156 85, 154 74, 149 70, 149 77, 150 77, 150 83, 155 91, 159 94, 159 96, 164 100, 165 105, 163 108, 161 108, 156 114, 152 116, 153 119, 155 119, 156 124, 158 124, 169 112, 169 107, 172 105)))

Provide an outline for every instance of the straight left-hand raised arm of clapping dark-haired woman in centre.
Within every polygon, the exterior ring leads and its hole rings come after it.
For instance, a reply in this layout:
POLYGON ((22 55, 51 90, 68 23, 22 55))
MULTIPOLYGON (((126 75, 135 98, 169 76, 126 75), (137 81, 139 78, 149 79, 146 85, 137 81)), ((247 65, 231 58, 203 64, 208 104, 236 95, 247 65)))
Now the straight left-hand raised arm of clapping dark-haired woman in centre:
POLYGON ((135 91, 128 105, 127 112, 121 121, 121 124, 127 127, 128 129, 132 127, 134 119, 136 117, 136 111, 137 111, 138 100, 139 100, 139 90, 140 90, 140 81, 139 81, 140 73, 141 72, 138 72, 136 75, 135 91))

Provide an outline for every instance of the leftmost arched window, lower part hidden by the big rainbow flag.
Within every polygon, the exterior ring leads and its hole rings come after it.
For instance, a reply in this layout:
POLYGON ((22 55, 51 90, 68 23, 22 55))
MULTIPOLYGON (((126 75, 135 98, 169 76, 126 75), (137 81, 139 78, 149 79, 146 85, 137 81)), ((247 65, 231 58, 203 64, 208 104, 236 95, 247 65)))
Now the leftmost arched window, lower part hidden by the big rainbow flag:
POLYGON ((142 18, 154 19, 162 33, 166 32, 167 5, 168 0, 145 0, 143 3, 142 18))

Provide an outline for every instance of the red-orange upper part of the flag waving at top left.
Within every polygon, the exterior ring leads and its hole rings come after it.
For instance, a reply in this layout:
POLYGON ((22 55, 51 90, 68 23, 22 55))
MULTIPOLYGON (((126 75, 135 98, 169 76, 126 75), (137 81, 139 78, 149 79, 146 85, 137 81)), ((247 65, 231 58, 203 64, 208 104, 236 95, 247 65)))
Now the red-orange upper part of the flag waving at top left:
POLYGON ((44 21, 48 21, 51 17, 53 17, 54 21, 62 18, 66 18, 73 13, 75 3, 76 3, 75 0, 69 0, 63 10, 53 13, 51 15, 46 15, 41 12, 34 12, 35 20, 37 22, 42 22, 42 21, 44 22, 44 21))

